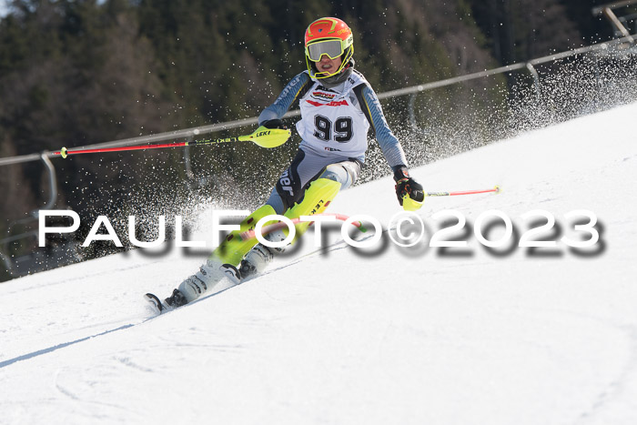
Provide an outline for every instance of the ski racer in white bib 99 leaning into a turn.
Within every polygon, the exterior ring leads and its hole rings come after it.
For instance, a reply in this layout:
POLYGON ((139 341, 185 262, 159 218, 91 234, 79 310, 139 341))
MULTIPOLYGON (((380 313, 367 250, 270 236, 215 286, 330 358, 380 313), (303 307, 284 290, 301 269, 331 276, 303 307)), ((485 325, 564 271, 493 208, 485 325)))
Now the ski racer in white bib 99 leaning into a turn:
MULTIPOLYGON (((308 66, 292 78, 277 100, 258 117, 259 126, 285 128, 281 117, 298 100, 301 119, 296 127, 302 138, 298 153, 278 179, 266 204, 231 232, 196 274, 184 280, 166 299, 179 307, 197 299, 222 278, 235 281, 256 275, 284 248, 268 248, 255 239, 243 241, 239 233, 254 228, 260 218, 278 214, 298 218, 321 214, 339 190, 359 176, 368 147, 369 126, 392 168, 401 206, 422 205, 422 186, 410 177, 407 159, 383 116, 379 99, 365 77, 354 69, 354 38, 349 26, 334 17, 320 18, 305 33, 308 66)), ((297 226, 297 234, 308 223, 297 226)), ((277 230, 265 236, 273 242, 286 238, 277 230)))

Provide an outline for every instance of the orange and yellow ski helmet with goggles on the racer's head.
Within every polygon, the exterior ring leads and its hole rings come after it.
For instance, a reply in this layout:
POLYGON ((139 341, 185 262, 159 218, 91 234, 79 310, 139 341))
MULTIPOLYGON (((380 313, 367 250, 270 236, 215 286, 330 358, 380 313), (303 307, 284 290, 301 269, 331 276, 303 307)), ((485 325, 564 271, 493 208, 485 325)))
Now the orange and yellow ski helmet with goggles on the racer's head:
POLYGON ((309 76, 327 78, 336 76, 348 67, 349 59, 354 55, 354 35, 349 26, 336 17, 322 17, 312 22, 305 32, 305 60, 309 76), (319 72, 315 66, 321 56, 330 59, 341 57, 339 69, 334 73, 319 72))

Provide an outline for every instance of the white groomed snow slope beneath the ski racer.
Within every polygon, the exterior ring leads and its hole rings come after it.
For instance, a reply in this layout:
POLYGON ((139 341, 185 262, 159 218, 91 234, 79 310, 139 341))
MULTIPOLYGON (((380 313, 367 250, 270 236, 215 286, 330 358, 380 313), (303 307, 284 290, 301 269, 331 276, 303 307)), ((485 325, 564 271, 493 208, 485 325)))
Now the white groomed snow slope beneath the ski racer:
MULTIPOLYGON (((430 191, 501 185, 419 211, 430 230, 458 211, 468 248, 385 234, 356 250, 332 231, 323 252, 305 242, 159 317, 142 294, 167 296, 205 256, 136 251, 0 285, 0 423, 637 423, 635 116, 622 106, 413 170, 430 191), (559 230, 539 238, 557 247, 488 251, 471 232, 490 209, 515 238, 522 215, 548 211, 559 230), (601 238, 572 250, 561 236, 587 235, 564 214, 581 209, 601 238)), ((330 210, 387 227, 399 207, 388 177, 330 210)))

